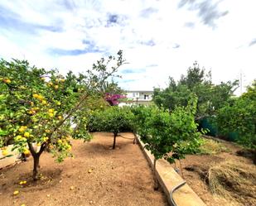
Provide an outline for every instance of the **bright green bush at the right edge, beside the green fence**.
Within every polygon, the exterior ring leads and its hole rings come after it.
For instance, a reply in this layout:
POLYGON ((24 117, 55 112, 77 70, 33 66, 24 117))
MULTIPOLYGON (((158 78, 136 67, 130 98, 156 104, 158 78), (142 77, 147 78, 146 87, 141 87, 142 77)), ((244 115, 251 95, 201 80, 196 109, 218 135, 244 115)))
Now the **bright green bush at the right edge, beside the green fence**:
POLYGON ((217 122, 221 135, 235 132, 235 141, 256 149, 256 81, 234 103, 219 110, 217 122))

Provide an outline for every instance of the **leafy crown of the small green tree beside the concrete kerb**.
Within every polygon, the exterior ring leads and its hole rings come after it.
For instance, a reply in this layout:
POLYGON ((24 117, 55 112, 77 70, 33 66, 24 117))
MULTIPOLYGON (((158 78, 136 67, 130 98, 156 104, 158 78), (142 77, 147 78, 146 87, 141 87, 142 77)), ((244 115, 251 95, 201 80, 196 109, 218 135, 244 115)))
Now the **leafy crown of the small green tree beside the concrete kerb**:
MULTIPOLYGON (((157 107, 133 108, 135 131, 156 161, 162 157, 174 163, 200 146, 200 132, 195 122, 196 97, 191 95, 186 107, 176 107, 171 113, 157 107)), ((157 189, 157 181, 155 181, 157 189)))

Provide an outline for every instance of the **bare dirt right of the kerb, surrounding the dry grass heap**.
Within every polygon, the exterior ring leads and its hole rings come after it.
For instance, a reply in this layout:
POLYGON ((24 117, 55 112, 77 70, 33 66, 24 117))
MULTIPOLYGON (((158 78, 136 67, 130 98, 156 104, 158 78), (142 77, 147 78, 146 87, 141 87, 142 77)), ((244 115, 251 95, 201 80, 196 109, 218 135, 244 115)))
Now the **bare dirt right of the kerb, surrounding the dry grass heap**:
MULTIPOLYGON (((217 155, 199 155, 199 156, 186 156, 185 160, 181 160, 181 168, 184 175, 184 180, 191 188, 200 196, 200 198, 208 206, 215 205, 240 205, 240 204, 230 204, 229 201, 225 199, 220 199, 215 195, 210 193, 207 185, 207 180, 205 176, 211 165, 218 164, 225 160, 234 160, 238 162, 243 162, 244 164, 253 165, 253 161, 244 158, 242 156, 237 156, 236 152, 241 150, 241 147, 229 143, 228 141, 222 142, 222 144, 228 149, 226 152, 221 152, 217 155)), ((179 168, 179 164, 176 164, 179 168)), ((255 167, 256 170, 256 167, 255 167)), ((243 195, 243 194, 240 194, 243 195)), ((244 200, 243 205, 256 205, 256 199, 250 199, 250 201, 244 200)))

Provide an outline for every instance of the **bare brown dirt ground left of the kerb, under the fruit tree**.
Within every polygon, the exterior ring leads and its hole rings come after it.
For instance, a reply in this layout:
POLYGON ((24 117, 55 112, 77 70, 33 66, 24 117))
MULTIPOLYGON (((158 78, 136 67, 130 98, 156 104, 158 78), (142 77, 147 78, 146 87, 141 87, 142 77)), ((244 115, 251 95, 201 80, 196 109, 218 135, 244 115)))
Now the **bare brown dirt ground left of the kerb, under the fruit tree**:
MULTIPOLYGON (((123 137, 133 138, 131 133, 123 137)), ((74 140, 75 158, 58 164, 49 153, 41 156, 41 180, 31 180, 32 159, 0 170, 0 205, 167 205, 153 190, 152 170, 133 140, 118 137, 111 150, 111 133, 94 133, 90 142, 74 140), (20 186, 19 182, 27 180, 20 186), (13 195, 15 190, 19 194, 13 195)))

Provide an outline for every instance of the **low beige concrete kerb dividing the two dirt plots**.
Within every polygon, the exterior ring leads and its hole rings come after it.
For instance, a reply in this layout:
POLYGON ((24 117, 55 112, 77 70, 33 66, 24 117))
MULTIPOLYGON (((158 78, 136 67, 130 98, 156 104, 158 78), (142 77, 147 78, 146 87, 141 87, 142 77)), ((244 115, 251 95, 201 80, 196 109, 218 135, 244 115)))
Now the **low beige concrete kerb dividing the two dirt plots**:
MULTIPOLYGON (((144 155, 147 158, 147 161, 153 168, 154 157, 145 149, 145 145, 142 143, 138 136, 137 141, 141 147, 144 155)), ((171 165, 166 160, 157 160, 157 180, 162 187, 162 190, 167 195, 167 199, 170 205, 171 204, 171 189, 175 188, 176 185, 181 184, 184 180, 176 171, 171 167, 171 165)), ((200 199, 200 197, 191 189, 187 184, 181 186, 173 193, 173 199, 177 206, 206 206, 205 203, 200 199)))

